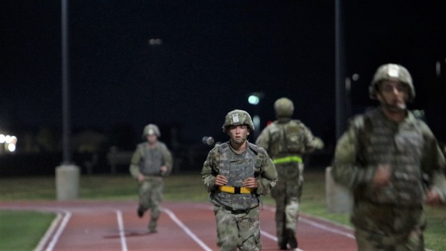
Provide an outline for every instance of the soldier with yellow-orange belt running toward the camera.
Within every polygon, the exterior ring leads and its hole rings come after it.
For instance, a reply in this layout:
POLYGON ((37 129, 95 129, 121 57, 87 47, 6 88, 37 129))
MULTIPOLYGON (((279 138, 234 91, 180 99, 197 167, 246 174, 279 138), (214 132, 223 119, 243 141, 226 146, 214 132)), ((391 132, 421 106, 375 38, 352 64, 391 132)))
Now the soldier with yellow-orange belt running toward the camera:
POLYGON ((208 153, 201 176, 214 204, 217 245, 224 251, 261 250, 259 196, 268 195, 277 173, 268 153, 247 142, 254 131, 243 110, 226 115, 223 132, 230 140, 208 153))

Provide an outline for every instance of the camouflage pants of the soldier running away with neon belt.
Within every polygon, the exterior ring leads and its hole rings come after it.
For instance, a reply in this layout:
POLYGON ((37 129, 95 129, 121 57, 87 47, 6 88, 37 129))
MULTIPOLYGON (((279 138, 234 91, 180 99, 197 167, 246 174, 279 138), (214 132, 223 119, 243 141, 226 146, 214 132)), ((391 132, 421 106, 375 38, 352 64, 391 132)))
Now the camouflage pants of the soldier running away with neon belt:
POLYGON ((279 178, 271 190, 276 203, 276 235, 277 242, 286 240, 286 229, 295 231, 300 213, 300 197, 303 189, 303 165, 287 163, 276 165, 279 178))

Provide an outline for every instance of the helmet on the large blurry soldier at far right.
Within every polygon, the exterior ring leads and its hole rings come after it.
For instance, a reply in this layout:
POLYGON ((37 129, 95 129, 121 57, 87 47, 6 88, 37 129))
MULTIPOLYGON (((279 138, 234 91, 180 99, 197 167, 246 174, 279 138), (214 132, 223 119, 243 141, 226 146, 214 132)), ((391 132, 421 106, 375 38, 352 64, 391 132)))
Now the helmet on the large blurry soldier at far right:
POLYGON ((415 98, 415 88, 413 87, 412 77, 404 66, 396 63, 386 63, 378 67, 369 86, 369 97, 371 99, 376 99, 378 84, 383 80, 395 80, 407 84, 410 89, 408 93, 408 101, 413 101, 415 98))

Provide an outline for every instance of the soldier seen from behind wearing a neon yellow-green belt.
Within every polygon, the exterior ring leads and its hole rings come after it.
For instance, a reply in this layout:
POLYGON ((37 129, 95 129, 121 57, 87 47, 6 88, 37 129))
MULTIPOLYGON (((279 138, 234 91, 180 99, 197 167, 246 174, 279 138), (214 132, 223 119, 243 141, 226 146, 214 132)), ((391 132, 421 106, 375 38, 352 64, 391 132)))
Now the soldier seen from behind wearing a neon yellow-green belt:
POLYGON ((277 120, 262 130, 256 144, 268 151, 277 169, 277 185, 271 195, 276 202, 277 244, 286 250, 287 244, 298 248, 295 230, 304 183, 302 155, 322 149, 323 142, 301 121, 291 119, 294 105, 289 98, 276 100, 274 109, 277 120))

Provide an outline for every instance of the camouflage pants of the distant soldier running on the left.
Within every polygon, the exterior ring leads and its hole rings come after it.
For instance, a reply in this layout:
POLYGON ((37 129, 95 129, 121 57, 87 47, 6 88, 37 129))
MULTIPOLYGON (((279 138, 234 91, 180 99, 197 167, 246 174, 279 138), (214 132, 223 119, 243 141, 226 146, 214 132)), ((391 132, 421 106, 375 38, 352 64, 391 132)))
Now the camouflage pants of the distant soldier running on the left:
POLYGON ((161 177, 147 177, 139 183, 139 207, 144 211, 151 209, 149 229, 156 229, 156 222, 160 217, 160 203, 162 201, 163 182, 161 177))

